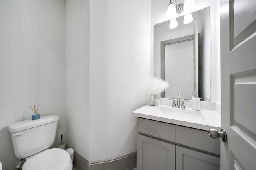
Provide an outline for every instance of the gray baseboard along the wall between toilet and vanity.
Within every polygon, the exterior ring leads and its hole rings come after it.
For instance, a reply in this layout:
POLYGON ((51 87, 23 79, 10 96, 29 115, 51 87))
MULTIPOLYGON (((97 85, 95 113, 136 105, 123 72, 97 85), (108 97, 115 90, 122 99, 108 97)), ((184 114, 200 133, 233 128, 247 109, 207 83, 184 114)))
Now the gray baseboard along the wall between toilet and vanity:
POLYGON ((137 152, 108 160, 89 162, 74 151, 74 167, 77 170, 129 170, 136 167, 136 162, 137 152))

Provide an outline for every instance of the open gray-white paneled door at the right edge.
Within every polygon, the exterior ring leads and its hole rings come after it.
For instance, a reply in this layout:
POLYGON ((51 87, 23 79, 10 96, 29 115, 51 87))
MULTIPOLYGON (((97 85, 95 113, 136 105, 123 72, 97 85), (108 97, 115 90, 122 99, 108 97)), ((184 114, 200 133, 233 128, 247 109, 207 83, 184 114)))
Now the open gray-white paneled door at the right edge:
POLYGON ((256 0, 221 1, 221 170, 256 170, 256 0))

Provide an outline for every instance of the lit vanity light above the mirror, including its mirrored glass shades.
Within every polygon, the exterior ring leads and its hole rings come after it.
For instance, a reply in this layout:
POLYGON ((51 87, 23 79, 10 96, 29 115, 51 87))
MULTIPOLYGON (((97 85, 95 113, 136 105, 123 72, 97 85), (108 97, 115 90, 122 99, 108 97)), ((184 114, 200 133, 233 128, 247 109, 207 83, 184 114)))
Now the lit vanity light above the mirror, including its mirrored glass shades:
MULTIPOLYGON (((180 14, 183 11, 191 12, 193 8, 195 7, 195 1, 194 0, 182 0, 181 4, 177 4, 176 0, 170 0, 170 4, 167 8, 167 17, 173 18, 170 20, 169 28, 174 29, 178 27, 178 21, 176 18, 174 18, 175 14, 180 14)), ((184 16, 183 24, 188 24, 193 21, 193 16, 191 13, 188 13, 184 16)))

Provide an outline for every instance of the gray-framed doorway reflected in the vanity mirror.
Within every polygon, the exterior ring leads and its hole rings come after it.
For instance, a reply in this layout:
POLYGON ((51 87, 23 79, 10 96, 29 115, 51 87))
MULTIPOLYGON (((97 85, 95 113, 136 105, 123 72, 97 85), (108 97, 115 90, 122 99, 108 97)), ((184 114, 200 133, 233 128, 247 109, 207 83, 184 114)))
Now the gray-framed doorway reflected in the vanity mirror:
POLYGON ((161 41, 161 78, 163 80, 180 80, 172 84, 172 88, 162 92, 162 98, 165 98, 165 96, 175 96, 176 92, 172 89, 183 91, 184 95, 186 95, 184 96, 185 98, 189 98, 190 96, 188 95, 192 91, 202 96, 200 86, 201 43, 199 40, 200 33, 198 35, 187 35, 161 41), (196 53, 195 50, 198 52, 196 53), (177 57, 170 57, 172 55, 177 57), (184 70, 184 74, 176 74, 175 70, 184 70))

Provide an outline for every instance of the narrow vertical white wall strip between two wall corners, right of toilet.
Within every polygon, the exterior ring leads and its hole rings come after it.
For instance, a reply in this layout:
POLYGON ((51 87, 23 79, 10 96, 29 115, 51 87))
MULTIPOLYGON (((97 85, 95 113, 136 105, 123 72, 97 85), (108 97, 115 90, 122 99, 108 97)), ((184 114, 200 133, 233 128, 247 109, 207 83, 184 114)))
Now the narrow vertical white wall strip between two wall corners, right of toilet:
POLYGON ((66 143, 89 160, 89 1, 66 1, 66 143))

